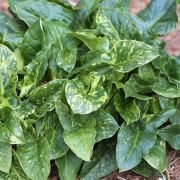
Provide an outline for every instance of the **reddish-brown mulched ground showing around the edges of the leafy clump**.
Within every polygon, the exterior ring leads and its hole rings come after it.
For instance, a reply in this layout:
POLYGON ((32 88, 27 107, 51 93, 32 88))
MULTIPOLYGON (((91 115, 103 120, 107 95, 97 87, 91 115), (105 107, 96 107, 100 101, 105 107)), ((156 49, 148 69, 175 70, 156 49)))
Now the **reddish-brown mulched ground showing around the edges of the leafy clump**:
MULTIPOLYGON (((76 4, 78 0, 69 0, 72 4, 76 4)), ((131 12, 137 14, 139 10, 144 9, 150 0, 132 0, 131 12)), ((11 15, 8 11, 8 4, 6 0, 0 0, 0 12, 4 12, 7 15, 11 15)), ((177 6, 177 14, 180 19, 180 5, 177 6)), ((163 39, 167 45, 167 51, 173 55, 180 55, 180 23, 177 24, 177 28, 164 37, 163 39)), ((167 176, 169 180, 180 180, 180 151, 169 150, 168 156, 168 169, 167 176)), ((125 173, 114 172, 111 175, 102 178, 102 180, 145 180, 146 178, 139 176, 131 171, 125 173)), ((150 180, 160 180, 159 177, 151 177, 150 180)), ((52 168, 52 174, 49 180, 58 180, 56 167, 52 168)))

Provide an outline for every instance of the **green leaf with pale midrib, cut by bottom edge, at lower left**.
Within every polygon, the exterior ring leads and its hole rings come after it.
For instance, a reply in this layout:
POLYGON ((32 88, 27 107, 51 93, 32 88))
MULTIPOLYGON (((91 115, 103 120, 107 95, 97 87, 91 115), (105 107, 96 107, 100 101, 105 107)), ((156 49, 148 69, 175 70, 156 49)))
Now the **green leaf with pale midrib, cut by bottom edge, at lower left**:
POLYGON ((16 150, 20 164, 32 180, 44 180, 50 173, 50 152, 47 140, 37 140, 19 145, 16 150))

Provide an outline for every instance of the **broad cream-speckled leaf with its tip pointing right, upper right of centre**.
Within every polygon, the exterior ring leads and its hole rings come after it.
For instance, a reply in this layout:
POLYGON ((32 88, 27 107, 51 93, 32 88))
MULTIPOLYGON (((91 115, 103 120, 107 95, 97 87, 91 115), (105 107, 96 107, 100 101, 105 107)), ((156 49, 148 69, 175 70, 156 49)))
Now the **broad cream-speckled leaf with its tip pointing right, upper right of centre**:
POLYGON ((113 66, 116 71, 129 72, 158 57, 156 50, 143 42, 122 40, 115 45, 116 58, 113 66))

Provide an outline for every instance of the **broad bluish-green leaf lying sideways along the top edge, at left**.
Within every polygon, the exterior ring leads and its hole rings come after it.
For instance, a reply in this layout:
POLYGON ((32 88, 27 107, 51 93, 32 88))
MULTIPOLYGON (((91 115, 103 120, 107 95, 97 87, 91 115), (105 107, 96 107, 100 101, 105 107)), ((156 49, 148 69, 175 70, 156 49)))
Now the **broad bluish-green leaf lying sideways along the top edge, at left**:
POLYGON ((39 18, 49 21, 61 21, 71 25, 75 20, 75 14, 56 4, 44 0, 27 0, 15 5, 17 16, 28 26, 31 26, 39 18), (39 8, 41 7, 41 8, 39 8))

